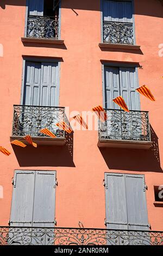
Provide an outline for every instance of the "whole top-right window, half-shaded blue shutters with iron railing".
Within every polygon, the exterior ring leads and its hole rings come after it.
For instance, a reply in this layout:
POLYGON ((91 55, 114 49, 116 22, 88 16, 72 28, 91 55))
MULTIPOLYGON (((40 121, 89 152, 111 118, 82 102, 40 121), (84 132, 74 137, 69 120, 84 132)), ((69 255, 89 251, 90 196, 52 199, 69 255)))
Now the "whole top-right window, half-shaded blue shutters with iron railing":
POLYGON ((103 0, 103 42, 134 44, 133 1, 103 0))

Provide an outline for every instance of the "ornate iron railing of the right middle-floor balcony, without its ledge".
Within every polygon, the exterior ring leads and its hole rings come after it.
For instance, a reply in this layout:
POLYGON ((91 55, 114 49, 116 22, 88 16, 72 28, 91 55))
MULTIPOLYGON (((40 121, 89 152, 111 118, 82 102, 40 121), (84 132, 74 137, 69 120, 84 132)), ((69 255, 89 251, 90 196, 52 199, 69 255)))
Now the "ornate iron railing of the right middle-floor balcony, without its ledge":
POLYGON ((151 142, 147 111, 124 112, 105 109, 107 120, 99 121, 98 136, 102 140, 129 140, 151 142))

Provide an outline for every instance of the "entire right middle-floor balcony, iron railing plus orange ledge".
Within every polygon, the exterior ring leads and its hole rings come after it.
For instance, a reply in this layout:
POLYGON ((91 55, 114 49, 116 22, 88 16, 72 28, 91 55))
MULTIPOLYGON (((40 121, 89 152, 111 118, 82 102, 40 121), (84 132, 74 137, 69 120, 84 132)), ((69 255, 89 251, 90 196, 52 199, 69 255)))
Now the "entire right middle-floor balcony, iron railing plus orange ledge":
POLYGON ((99 147, 150 148, 151 131, 147 111, 124 112, 105 109, 107 120, 98 125, 99 147))

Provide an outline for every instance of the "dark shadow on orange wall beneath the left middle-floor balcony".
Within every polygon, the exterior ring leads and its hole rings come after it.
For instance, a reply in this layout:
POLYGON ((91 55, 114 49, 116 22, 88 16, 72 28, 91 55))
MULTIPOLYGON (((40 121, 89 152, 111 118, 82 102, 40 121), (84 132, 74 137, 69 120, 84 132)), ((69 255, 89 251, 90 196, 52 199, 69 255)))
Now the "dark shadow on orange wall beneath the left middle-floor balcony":
POLYGON ((20 167, 75 167, 73 162, 73 133, 66 135, 64 146, 41 146, 26 148, 12 145, 20 167))

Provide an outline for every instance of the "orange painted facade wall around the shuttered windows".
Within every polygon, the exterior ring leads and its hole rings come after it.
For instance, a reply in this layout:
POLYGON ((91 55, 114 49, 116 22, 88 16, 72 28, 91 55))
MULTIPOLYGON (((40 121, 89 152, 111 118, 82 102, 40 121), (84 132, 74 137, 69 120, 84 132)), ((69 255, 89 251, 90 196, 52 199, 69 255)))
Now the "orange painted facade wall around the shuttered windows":
POLYGON ((140 50, 102 50, 100 1, 61 1, 61 40, 65 45, 22 42, 26 19, 25 0, 0 3, 0 138, 1 154, 0 225, 10 219, 12 177, 15 169, 57 170, 55 217, 57 227, 105 228, 105 172, 145 174, 148 221, 152 230, 163 230, 162 206, 154 203, 154 185, 163 185, 162 64, 159 45, 163 43, 162 5, 158 0, 136 0, 135 36, 140 50), (12 3, 14 2, 14 4, 12 3), (92 3, 93 2, 93 3, 92 3), (76 12, 76 13, 75 13, 76 12), (154 144, 149 150, 99 149, 97 131, 75 131, 73 149, 39 146, 37 149, 12 147, 13 105, 20 104, 23 56, 61 58, 59 106, 70 111, 91 111, 103 102, 102 60, 139 63, 139 84, 146 84, 155 96, 152 102, 141 97, 141 110, 149 111, 154 144))

